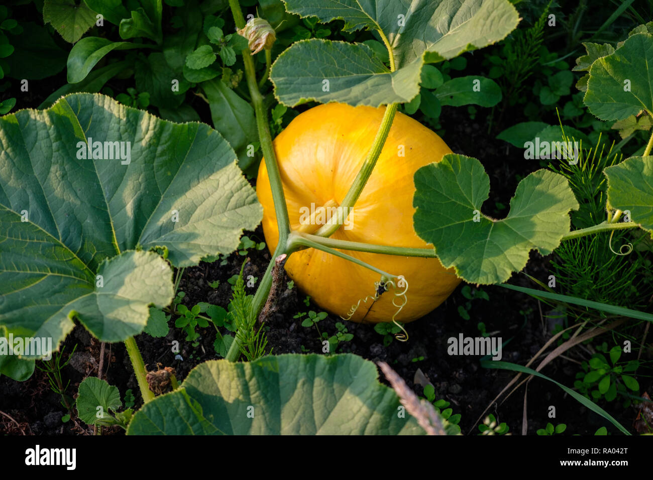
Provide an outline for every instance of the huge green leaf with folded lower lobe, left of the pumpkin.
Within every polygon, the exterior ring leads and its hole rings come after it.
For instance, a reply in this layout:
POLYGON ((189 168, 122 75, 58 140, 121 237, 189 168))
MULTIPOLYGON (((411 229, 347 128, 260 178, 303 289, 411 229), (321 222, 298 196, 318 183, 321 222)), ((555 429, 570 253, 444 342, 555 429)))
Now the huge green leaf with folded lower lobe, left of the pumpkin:
POLYGON ((208 125, 104 95, 0 118, 0 328, 54 346, 71 317, 107 342, 141 332, 148 304, 173 294, 170 267, 147 250, 165 247, 170 263, 189 266, 230 253, 258 225, 261 206, 235 160, 208 125), (94 150, 104 158, 86 159, 88 138, 122 142, 131 158, 106 155, 105 144, 94 150))

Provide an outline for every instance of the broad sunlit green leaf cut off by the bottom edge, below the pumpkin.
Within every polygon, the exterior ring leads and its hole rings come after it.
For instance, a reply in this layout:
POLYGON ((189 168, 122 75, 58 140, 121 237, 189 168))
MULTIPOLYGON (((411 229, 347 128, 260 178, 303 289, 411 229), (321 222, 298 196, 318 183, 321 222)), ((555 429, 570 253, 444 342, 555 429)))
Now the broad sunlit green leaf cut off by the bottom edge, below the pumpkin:
POLYGON ((128 435, 424 434, 357 355, 209 360, 140 409, 128 435))

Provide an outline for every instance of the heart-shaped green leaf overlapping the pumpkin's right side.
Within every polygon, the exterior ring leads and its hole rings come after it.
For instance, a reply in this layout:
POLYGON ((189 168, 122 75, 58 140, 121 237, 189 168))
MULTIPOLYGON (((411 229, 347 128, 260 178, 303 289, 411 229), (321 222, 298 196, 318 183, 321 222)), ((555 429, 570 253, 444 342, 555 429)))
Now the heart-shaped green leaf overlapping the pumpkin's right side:
POLYGON ((569 232, 569 210, 578 208, 562 175, 537 170, 517 186, 505 219, 487 217, 481 206, 490 180, 481 162, 464 155, 420 168, 415 187, 415 231, 469 283, 500 283, 524 268, 531 249, 551 253, 569 232))

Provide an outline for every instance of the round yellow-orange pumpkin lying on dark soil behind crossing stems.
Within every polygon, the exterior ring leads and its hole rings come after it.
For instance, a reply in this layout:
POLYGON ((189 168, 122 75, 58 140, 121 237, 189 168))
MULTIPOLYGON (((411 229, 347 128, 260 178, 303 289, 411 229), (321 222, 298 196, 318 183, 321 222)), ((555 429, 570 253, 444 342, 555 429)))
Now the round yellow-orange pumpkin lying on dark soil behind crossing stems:
MULTIPOLYGON (((384 108, 370 106, 323 104, 298 115, 275 138, 274 149, 293 230, 317 231, 321 225, 306 225, 307 210, 337 206, 342 202, 368 155, 383 112, 384 108)), ((413 175, 418 168, 440 161, 446 153, 451 150, 436 133, 398 112, 374 172, 349 214, 348 229, 341 226, 331 238, 389 246, 430 247, 413 229, 413 175)), ((270 251, 274 251, 279 233, 264 162, 259 168, 257 195, 263 204, 265 240, 270 251)), ((315 217, 322 222, 327 219, 315 217)), ((422 317, 441 304, 460 282, 453 268, 446 270, 438 259, 358 251, 344 253, 406 278, 407 302, 396 315, 397 321, 409 322, 422 317)), ((295 284, 321 308, 343 317, 348 316, 351 307, 360 299, 374 296, 374 283, 381 280, 379 274, 368 268, 312 248, 293 253, 285 269, 295 284)), ((392 321, 398 310, 392 304, 396 298, 394 293, 390 287, 377 300, 360 302, 351 320, 392 321)), ((395 300, 396 304, 402 302, 400 298, 395 300)))

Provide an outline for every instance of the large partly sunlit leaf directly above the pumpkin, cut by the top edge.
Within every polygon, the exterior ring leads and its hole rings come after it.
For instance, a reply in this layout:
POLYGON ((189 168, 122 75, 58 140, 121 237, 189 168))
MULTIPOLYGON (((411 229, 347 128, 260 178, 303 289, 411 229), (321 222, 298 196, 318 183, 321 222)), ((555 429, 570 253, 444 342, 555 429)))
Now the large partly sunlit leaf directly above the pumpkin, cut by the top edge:
POLYGON ((507 0, 283 1, 288 12, 302 17, 344 20, 346 31, 379 32, 396 67, 390 72, 364 44, 296 42, 278 57, 270 74, 275 95, 288 106, 310 100, 354 106, 409 102, 419 93, 424 63, 497 42, 518 22, 517 10, 507 0))

